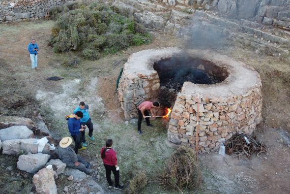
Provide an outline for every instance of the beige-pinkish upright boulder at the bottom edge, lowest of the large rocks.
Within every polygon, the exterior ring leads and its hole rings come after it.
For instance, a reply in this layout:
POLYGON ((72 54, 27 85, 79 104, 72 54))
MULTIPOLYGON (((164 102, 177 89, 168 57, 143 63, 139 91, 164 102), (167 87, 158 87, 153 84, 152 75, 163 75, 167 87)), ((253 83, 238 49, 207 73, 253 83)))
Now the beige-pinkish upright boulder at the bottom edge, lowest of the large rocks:
POLYGON ((47 168, 42 168, 34 174, 32 183, 37 194, 58 194, 54 175, 55 172, 47 168))

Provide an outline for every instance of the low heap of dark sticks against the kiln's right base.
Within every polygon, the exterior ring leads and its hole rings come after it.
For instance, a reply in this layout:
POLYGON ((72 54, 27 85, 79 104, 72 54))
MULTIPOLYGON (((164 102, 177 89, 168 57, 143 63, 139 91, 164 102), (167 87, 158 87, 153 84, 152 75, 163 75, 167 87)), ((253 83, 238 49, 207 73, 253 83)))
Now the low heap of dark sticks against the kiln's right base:
POLYGON ((250 158, 252 154, 261 158, 261 155, 266 153, 265 145, 262 142, 257 142, 256 136, 248 134, 235 134, 225 143, 226 154, 234 155, 239 159, 243 156, 250 158))

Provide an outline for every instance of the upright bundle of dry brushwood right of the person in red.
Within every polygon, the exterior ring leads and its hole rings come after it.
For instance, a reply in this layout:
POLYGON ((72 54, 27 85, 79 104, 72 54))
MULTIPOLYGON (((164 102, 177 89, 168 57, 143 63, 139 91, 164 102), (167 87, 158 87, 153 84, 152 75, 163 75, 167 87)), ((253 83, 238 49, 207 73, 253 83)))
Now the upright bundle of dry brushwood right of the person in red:
POLYGON ((164 172, 158 177, 158 182, 166 189, 176 189, 183 193, 183 189, 198 189, 202 181, 202 174, 196 153, 192 148, 180 146, 171 155, 164 172))

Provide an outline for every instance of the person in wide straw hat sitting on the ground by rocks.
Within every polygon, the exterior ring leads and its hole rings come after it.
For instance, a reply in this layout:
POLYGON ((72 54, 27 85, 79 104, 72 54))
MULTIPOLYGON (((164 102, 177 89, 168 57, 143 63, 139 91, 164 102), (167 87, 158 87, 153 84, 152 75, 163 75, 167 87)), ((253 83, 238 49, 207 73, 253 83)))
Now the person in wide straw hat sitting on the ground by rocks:
POLYGON ((82 157, 77 155, 69 146, 72 142, 71 137, 63 137, 58 145, 58 158, 66 164, 66 166, 78 169, 86 174, 92 173, 93 170, 88 169, 90 163, 86 162, 82 157))

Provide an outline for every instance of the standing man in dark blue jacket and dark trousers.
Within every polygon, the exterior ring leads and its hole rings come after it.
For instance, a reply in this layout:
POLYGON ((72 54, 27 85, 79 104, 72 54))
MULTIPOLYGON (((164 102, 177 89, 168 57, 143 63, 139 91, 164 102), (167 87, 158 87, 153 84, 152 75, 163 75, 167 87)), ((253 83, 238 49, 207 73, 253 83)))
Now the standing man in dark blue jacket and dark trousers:
POLYGON ((79 150, 85 150, 86 147, 82 147, 81 145, 81 134, 80 131, 84 131, 85 127, 81 126, 80 119, 83 118, 83 113, 81 111, 77 111, 73 118, 68 118, 67 127, 75 141, 75 153, 78 154, 79 150))

